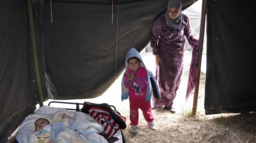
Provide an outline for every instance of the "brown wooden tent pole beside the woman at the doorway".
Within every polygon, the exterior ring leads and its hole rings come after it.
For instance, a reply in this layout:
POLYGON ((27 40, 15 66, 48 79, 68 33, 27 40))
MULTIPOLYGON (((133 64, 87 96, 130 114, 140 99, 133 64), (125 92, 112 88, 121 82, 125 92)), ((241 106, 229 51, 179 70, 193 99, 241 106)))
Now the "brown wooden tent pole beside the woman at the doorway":
POLYGON ((199 33, 198 67, 196 70, 196 86, 195 86, 193 108, 192 108, 193 116, 196 116, 196 112, 197 112, 197 99, 198 99, 199 80, 200 80, 200 73, 201 73, 206 9, 207 9, 207 0, 203 0, 202 11, 201 11, 200 33, 199 33))

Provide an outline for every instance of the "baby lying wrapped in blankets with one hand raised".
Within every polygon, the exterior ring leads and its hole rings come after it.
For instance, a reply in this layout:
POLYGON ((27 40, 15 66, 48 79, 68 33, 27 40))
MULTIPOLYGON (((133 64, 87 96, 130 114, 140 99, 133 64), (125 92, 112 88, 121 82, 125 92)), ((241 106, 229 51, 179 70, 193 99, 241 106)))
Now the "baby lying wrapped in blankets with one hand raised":
MULTIPOLYGON (((69 126, 68 117, 69 116, 66 114, 63 114, 61 116, 62 123, 65 126, 69 126)), ((49 141, 51 128, 52 126, 49 120, 45 118, 39 118, 35 121, 36 137, 37 137, 38 143, 54 143, 54 140, 49 141)))

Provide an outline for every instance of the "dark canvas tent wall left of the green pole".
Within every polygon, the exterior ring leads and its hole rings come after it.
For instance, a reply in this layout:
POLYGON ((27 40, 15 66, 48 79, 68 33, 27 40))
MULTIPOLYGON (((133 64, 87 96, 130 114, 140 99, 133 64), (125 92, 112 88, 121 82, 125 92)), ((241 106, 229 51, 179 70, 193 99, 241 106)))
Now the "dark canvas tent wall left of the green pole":
POLYGON ((33 113, 38 103, 25 1, 1 1, 0 142, 33 113))

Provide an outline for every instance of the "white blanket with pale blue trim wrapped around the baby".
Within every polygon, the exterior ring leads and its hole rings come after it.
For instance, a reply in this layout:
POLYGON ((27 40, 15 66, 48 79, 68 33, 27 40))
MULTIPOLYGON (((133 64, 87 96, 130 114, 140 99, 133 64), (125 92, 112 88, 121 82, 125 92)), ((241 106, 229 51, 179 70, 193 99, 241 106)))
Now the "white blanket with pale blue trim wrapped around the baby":
MULTIPOLYGON (((76 111, 68 111, 61 108, 54 108, 49 106, 43 106, 38 109, 34 114, 30 115, 21 123, 16 139, 19 143, 37 143, 37 138, 35 134, 34 123, 38 118, 46 118, 53 124, 53 129, 60 126, 56 126, 61 122, 61 115, 67 114, 69 116, 70 127, 63 127, 61 132, 53 132, 55 142, 60 143, 71 143, 71 142, 93 142, 93 143, 107 143, 107 140, 98 135, 102 133, 104 128, 101 124, 95 121, 91 116, 76 111), (71 137, 75 135, 74 130, 72 131, 71 126, 75 128, 78 132, 85 136, 87 140, 76 140, 71 137), (60 134, 61 133, 61 134, 60 134)), ((59 130, 58 130, 59 131, 59 130)), ((51 136, 50 136, 51 137, 51 136)))

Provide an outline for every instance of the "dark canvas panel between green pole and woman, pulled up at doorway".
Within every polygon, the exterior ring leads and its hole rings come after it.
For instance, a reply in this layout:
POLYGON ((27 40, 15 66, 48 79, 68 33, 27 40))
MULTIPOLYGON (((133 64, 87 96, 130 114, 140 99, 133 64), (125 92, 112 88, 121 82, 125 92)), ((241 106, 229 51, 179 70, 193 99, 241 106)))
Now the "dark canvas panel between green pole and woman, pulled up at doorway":
POLYGON ((153 22, 166 3, 137 0, 112 6, 105 0, 97 4, 86 0, 34 4, 48 98, 102 95, 122 73, 127 50, 146 47, 153 22))

